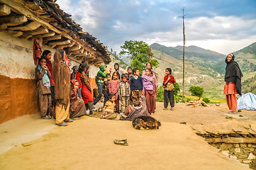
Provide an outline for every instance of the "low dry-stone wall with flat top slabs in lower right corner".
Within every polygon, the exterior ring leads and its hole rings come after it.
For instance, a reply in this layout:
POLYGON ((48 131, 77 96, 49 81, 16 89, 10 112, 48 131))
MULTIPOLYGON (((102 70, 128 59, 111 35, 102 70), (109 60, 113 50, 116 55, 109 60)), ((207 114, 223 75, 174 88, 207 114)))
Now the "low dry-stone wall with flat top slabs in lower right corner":
POLYGON ((197 125, 192 128, 196 135, 204 137, 208 144, 230 159, 256 169, 255 124, 197 125))

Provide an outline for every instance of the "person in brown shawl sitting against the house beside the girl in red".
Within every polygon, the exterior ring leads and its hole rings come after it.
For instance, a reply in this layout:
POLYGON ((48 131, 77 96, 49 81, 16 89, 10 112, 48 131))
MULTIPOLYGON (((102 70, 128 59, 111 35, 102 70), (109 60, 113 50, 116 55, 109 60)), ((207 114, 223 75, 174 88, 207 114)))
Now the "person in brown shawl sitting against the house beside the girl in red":
POLYGON ((87 113, 84 106, 84 101, 78 97, 77 89, 79 88, 79 81, 72 79, 71 80, 71 89, 70 89, 70 118, 79 118, 82 115, 87 113))

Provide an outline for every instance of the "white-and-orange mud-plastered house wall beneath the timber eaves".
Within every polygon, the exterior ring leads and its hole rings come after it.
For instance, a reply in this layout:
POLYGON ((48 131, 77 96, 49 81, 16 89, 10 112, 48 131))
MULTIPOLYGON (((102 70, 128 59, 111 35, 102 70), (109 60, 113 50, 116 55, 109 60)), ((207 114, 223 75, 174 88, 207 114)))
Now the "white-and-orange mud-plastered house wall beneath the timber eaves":
POLYGON ((0 32, 0 123, 38 112, 33 40, 0 32))

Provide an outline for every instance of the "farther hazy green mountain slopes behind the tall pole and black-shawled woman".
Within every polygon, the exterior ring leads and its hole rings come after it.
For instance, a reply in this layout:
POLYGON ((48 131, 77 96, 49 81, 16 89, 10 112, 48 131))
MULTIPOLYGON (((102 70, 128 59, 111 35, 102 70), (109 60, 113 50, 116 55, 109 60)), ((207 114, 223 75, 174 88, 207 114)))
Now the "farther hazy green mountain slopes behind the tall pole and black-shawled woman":
MULTIPOLYGON (((183 46, 177 47, 166 47, 165 45, 160 45, 153 43, 150 45, 152 49, 164 52, 165 54, 176 58, 177 60, 182 60, 183 57, 183 46)), ((243 72, 255 72, 256 71, 256 42, 252 43, 237 52, 235 52, 237 58, 235 59, 239 64, 243 72)), ((191 45, 185 47, 185 60, 197 64, 201 67, 211 68, 214 71, 224 74, 226 63, 224 62, 226 55, 214 52, 212 50, 205 50, 201 47, 196 47, 191 45)))

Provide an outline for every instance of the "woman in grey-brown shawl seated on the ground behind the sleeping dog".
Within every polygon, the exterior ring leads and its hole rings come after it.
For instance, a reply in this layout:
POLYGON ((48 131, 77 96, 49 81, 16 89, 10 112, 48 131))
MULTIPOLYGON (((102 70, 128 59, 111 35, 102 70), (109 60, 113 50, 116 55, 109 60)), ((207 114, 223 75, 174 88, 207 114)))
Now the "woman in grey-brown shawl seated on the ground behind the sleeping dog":
POLYGON ((138 107, 139 109, 134 108, 133 111, 126 116, 126 118, 120 118, 120 120, 132 121, 135 115, 149 115, 145 96, 140 96, 140 98, 142 101, 138 107))

